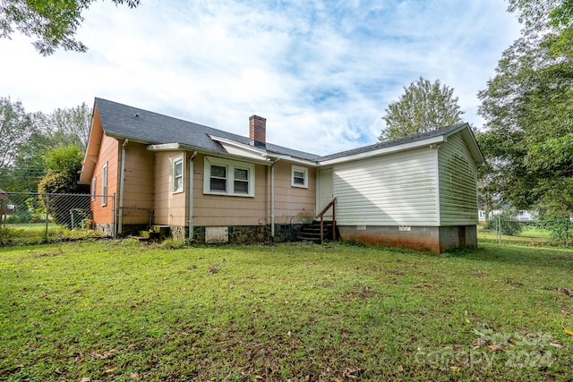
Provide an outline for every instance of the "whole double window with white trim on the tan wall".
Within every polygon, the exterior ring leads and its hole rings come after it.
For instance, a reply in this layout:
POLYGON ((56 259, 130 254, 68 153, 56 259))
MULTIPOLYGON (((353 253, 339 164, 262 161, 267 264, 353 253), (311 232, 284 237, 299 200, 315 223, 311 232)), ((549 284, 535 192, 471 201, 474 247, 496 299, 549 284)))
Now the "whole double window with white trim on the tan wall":
POLYGON ((220 157, 205 157, 203 193, 254 196, 254 165, 220 157))

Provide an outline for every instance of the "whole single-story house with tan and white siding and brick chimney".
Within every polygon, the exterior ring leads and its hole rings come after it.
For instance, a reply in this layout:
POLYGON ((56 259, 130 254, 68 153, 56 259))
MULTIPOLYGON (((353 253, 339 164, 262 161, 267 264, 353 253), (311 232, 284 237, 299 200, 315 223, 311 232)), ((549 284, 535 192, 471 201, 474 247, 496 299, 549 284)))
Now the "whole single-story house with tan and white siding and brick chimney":
POLYGON ((435 252, 477 243, 483 156, 467 123, 318 156, 267 142, 256 115, 244 137, 96 98, 92 121, 80 182, 106 232, 278 237, 336 198, 343 240, 435 252), (115 210, 101 193, 115 195, 115 210))

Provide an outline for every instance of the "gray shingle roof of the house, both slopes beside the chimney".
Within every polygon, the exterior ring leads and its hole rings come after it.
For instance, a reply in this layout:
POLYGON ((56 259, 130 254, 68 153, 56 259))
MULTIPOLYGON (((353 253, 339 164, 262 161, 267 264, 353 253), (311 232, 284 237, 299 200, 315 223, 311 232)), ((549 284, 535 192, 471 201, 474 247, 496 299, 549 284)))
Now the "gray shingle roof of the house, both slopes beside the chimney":
MULTIPOLYGON (((207 149, 221 153, 227 151, 218 141, 212 140, 210 135, 249 144, 248 137, 231 132, 224 132, 198 123, 187 122, 167 115, 160 115, 137 107, 118 104, 113 101, 108 101, 107 99, 96 98, 95 105, 98 107, 101 124, 107 135, 128 138, 148 144, 180 143, 197 149, 207 149)), ((376 143, 324 157, 304 151, 288 149, 272 143, 267 143, 266 149, 281 155, 319 162, 389 148, 391 146, 415 142, 416 140, 448 135, 450 132, 458 130, 465 124, 466 123, 460 123, 432 132, 423 132, 399 140, 376 143)))

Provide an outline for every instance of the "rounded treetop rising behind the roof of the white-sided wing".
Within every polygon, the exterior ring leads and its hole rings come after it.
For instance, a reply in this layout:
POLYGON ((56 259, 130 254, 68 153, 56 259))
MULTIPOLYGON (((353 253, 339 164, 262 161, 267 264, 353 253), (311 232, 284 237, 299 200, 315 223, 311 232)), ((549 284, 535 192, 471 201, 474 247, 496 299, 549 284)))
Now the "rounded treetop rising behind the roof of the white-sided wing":
POLYGON ((396 140, 408 135, 461 123, 464 114, 453 97, 454 89, 424 80, 412 82, 398 101, 389 104, 382 119, 386 127, 378 138, 380 141, 396 140))

